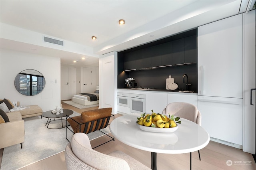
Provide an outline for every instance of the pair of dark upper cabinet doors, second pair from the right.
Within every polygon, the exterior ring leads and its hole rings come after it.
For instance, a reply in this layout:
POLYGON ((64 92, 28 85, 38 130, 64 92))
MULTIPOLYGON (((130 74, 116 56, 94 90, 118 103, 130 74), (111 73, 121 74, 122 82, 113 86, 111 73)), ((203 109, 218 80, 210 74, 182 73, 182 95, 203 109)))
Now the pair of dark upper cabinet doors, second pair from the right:
POLYGON ((172 42, 153 46, 151 56, 152 67, 172 65, 172 42))

